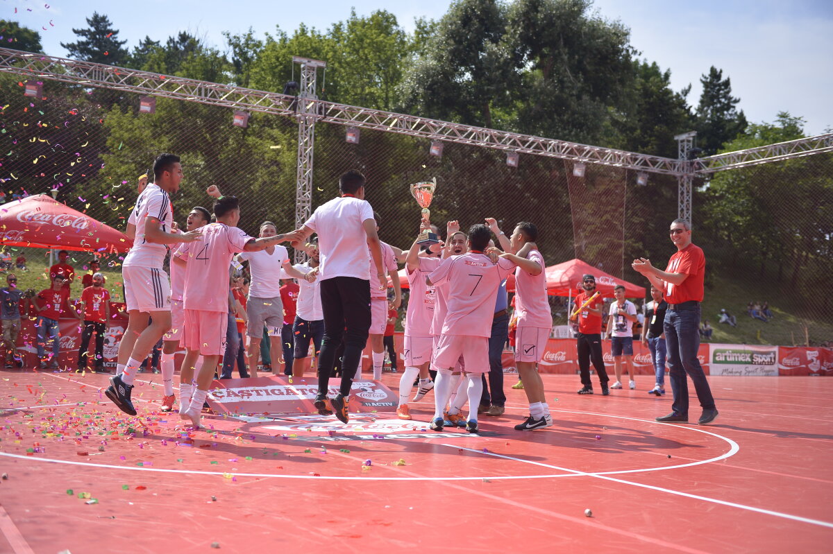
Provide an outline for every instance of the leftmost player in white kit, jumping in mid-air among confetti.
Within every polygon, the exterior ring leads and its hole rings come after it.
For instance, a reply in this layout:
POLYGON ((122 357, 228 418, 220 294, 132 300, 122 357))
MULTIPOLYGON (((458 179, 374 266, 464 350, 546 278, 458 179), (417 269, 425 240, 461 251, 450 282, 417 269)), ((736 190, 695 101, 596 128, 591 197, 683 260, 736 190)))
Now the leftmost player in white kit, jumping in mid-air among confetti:
POLYGON ((133 239, 122 264, 127 329, 118 345, 117 374, 110 378, 110 386, 105 391, 107 398, 130 415, 136 415, 130 394, 139 366, 171 327, 171 286, 162 269, 166 245, 202 238, 197 231, 182 235, 171 232, 173 208, 168 194, 176 193, 182 181, 179 156, 157 156, 153 176, 154 182, 139 194, 127 220, 127 236, 133 239), (147 323, 150 317, 152 324, 147 323))

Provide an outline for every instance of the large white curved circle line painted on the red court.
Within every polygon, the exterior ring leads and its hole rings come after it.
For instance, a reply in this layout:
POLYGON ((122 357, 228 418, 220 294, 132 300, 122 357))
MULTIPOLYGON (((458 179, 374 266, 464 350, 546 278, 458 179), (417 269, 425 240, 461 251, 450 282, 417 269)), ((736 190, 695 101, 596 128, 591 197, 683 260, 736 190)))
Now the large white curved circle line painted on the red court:
MULTIPOLYGON (((79 461, 71 461, 71 460, 58 460, 53 458, 35 458, 33 456, 23 456, 21 454, 12 454, 12 453, 2 453, 0 452, 0 456, 6 458, 20 458, 27 461, 37 461, 37 462, 47 462, 47 463, 63 463, 72 466, 87 466, 87 467, 106 467, 108 469, 125 469, 128 471, 145 471, 145 472, 162 472, 162 473, 185 473, 189 475, 234 475, 235 477, 277 477, 277 478, 284 478, 284 479, 327 479, 331 481, 482 481, 484 479, 488 479, 490 481, 495 481, 498 479, 550 479, 556 477, 603 477, 608 475, 621 475, 624 473, 644 473, 644 472, 656 472, 656 471, 665 471, 667 469, 681 469, 682 467, 694 467, 703 465, 706 463, 712 462, 719 462, 726 458, 731 458, 736 453, 741 450, 741 447, 731 438, 726 438, 722 435, 717 433, 712 433, 711 431, 706 431, 706 429, 695 428, 687 425, 676 425, 673 423, 659 423, 656 421, 651 421, 650 419, 640 419, 640 418, 631 418, 630 416, 619 416, 619 415, 612 415, 610 413, 594 413, 594 412, 581 412, 578 410, 551 410, 551 412, 561 412, 561 413, 580 413, 584 415, 592 415, 592 416, 599 416, 602 418, 616 418, 616 419, 628 419, 631 421, 637 421, 641 423, 654 423, 656 425, 666 425, 669 427, 676 427, 685 429, 688 431, 696 431, 697 433, 703 433, 706 435, 711 435, 712 437, 719 438, 725 443, 729 444, 729 450, 725 453, 722 453, 715 458, 708 458, 706 460, 699 460, 697 462, 688 462, 688 463, 681 463, 673 466, 662 466, 662 467, 642 467, 637 469, 624 469, 618 471, 610 471, 610 472, 583 472, 580 470, 570 470, 567 469, 566 473, 551 473, 551 474, 544 474, 544 475, 481 475, 477 477, 370 477, 370 476, 336 476, 336 475, 286 475, 282 473, 242 473, 242 472, 209 472, 209 471, 202 471, 198 469, 167 469, 165 467, 137 467, 137 466, 117 466, 113 464, 107 463, 92 463, 92 462, 79 462, 79 461)), ((441 435, 440 435, 441 437, 441 435)), ((502 439, 501 439, 502 440, 502 439)), ((449 445, 445 445, 449 446, 449 445)), ((459 448, 459 447, 452 447, 452 448, 459 448)), ((350 457, 347 457, 350 458, 350 457)), ((521 458, 515 458, 516 461, 519 462, 526 462, 529 463, 528 460, 523 460, 521 458)), ((548 467, 549 464, 541 464, 544 467, 548 467)), ((387 467, 387 466, 383 466, 387 467)))

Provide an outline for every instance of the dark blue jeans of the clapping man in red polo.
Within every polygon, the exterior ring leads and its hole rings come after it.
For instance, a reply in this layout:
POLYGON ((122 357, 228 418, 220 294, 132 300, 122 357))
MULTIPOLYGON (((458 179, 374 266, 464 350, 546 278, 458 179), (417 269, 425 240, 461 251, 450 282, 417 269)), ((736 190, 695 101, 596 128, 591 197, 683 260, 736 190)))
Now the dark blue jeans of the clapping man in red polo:
POLYGON ((697 398, 701 407, 715 408, 715 398, 711 396, 711 388, 706 380, 706 373, 697 359, 697 349, 700 348, 700 305, 694 309, 669 309, 663 324, 666 332, 666 347, 668 349, 668 365, 671 370, 668 380, 674 392, 674 403, 671 409, 678 415, 688 415, 688 380, 691 377, 697 398))

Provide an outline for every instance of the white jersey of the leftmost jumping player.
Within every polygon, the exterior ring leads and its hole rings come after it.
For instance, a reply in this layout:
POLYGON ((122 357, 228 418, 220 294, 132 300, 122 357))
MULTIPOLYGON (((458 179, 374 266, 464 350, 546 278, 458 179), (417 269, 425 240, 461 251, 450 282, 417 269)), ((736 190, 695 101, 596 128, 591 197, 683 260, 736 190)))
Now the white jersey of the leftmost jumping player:
POLYGON ((136 238, 122 266, 152 267, 162 269, 167 254, 167 246, 150 243, 145 240, 145 222, 148 217, 155 217, 162 222, 160 229, 166 233, 173 224, 173 206, 167 192, 153 183, 147 185, 136 199, 136 206, 127 218, 127 223, 136 225, 136 238))

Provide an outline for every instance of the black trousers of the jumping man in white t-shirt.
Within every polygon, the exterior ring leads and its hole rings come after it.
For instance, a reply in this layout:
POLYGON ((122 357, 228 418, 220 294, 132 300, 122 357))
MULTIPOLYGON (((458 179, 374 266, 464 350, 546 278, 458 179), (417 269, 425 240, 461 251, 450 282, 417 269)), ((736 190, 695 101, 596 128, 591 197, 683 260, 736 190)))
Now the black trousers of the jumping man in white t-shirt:
POLYGON ((343 339, 339 392, 347 397, 370 331, 370 281, 356 277, 324 279, 321 282, 321 304, 324 310, 324 340, 318 359, 318 395, 327 395, 336 350, 343 339))

